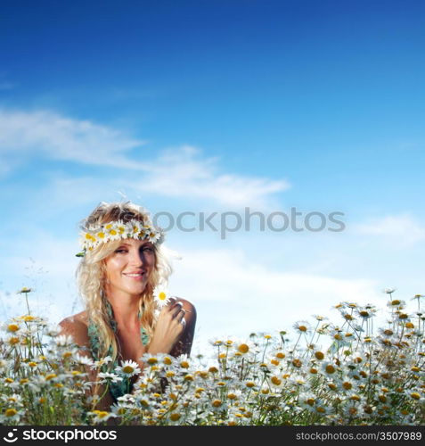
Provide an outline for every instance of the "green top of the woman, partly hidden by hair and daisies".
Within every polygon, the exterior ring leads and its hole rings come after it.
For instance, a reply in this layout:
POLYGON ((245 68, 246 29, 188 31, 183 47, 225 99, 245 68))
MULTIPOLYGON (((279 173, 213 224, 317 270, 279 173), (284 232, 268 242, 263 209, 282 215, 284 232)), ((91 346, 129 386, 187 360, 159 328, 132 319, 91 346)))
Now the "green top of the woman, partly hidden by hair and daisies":
MULTIPOLYGON (((118 325, 117 321, 114 319, 114 314, 112 311, 112 306, 110 305, 109 301, 106 301, 106 311, 108 313, 109 319, 110 319, 110 327, 114 331, 114 333, 117 333, 118 325)), ((139 318, 141 318, 141 314, 139 313, 139 318)), ((99 341, 99 334, 97 327, 94 325, 93 321, 89 321, 88 327, 87 327, 87 334, 90 340, 90 351, 92 353, 94 360, 101 359, 99 357, 99 350, 100 350, 100 341, 99 341)), ((140 338, 142 340, 143 345, 146 345, 149 343, 149 335, 146 333, 146 330, 143 328, 143 326, 140 326, 140 338)), ((112 356, 112 346, 110 345, 110 350, 108 351, 108 355, 112 356)), ((102 372, 107 371, 113 371, 116 367, 119 366, 119 360, 115 359, 110 364, 104 364, 101 368, 102 372)), ((113 400, 117 402, 117 399, 119 396, 123 396, 126 393, 131 392, 133 388, 133 384, 131 384, 130 380, 128 378, 124 378, 122 381, 119 381, 119 383, 110 383, 110 395, 112 396, 113 400)))

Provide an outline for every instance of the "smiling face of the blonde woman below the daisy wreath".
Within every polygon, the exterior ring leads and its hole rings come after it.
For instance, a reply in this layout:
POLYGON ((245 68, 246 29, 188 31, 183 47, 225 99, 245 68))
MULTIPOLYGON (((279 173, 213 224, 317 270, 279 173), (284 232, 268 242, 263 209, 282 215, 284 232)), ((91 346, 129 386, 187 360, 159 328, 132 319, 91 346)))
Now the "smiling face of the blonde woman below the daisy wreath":
POLYGON ((107 295, 140 296, 155 267, 153 244, 146 240, 123 240, 105 259, 107 295))

